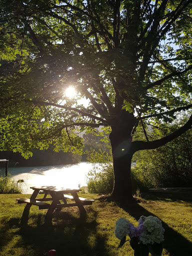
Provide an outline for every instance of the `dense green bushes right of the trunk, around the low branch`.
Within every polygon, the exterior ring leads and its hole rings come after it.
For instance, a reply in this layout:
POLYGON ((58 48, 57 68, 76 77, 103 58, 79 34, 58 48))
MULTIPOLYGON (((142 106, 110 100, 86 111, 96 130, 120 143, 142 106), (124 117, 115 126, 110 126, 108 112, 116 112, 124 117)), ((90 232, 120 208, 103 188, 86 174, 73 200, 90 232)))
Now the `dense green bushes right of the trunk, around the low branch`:
MULTIPOLYGON (((181 123, 175 123, 177 128, 181 123)), ((161 129, 152 129, 151 140, 172 132, 167 124, 161 129)), ((136 166, 133 175, 147 188, 150 187, 190 187, 192 186, 192 130, 188 130, 169 143, 134 154, 136 166)))

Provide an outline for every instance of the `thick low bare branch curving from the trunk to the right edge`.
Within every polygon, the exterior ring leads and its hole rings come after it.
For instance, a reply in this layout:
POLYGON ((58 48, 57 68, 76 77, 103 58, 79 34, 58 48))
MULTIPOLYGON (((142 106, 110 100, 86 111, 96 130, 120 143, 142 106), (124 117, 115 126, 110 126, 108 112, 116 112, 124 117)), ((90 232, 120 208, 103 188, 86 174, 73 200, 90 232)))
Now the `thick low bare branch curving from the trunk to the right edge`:
POLYGON ((159 146, 162 146, 166 144, 167 142, 171 141, 172 139, 180 136, 182 133, 184 133, 186 130, 191 129, 192 125, 192 115, 190 115, 188 121, 179 129, 176 131, 170 133, 169 135, 156 139, 153 141, 141 141, 141 140, 136 140, 132 142, 132 153, 138 151, 138 150, 143 150, 143 149, 154 149, 159 146))

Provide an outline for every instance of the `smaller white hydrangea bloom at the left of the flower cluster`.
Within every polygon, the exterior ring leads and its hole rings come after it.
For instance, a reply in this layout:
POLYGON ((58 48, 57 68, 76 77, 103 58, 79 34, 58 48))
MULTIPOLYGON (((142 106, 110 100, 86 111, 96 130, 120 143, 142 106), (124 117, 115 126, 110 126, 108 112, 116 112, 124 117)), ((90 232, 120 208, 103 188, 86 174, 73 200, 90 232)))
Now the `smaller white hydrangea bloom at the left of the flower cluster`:
POLYGON ((126 218, 119 218, 115 222, 114 234, 118 239, 121 240, 127 234, 129 222, 130 221, 126 218))

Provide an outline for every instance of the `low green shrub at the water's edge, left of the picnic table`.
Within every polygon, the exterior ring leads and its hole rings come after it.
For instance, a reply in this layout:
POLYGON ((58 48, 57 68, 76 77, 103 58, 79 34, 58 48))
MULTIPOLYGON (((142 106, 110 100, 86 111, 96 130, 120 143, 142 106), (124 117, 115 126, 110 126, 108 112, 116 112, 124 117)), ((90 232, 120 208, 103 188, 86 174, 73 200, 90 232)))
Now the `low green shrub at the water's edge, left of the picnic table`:
POLYGON ((11 180, 9 176, 0 178, 0 194, 21 193, 22 188, 20 182, 11 180))

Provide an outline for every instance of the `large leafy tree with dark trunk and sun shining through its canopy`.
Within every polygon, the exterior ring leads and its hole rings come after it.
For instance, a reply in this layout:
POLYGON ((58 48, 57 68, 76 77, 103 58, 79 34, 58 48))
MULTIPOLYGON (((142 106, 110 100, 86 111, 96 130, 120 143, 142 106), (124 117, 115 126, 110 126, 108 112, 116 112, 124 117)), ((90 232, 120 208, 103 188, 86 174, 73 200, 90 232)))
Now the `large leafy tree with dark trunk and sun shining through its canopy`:
POLYGON ((0 0, 0 7, 1 149, 26 155, 53 142, 80 150, 75 130, 110 127, 112 194, 131 198, 133 153, 191 128, 188 116, 154 141, 144 128, 192 107, 191 0, 0 0), (69 85, 73 99, 63 94, 69 85), (132 140, 137 125, 143 141, 132 140))

